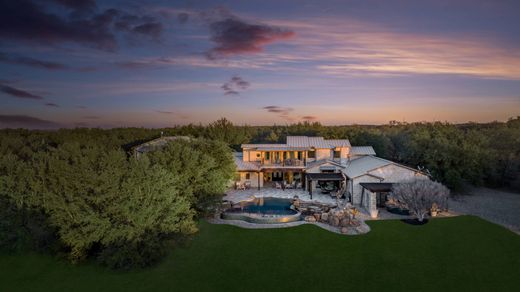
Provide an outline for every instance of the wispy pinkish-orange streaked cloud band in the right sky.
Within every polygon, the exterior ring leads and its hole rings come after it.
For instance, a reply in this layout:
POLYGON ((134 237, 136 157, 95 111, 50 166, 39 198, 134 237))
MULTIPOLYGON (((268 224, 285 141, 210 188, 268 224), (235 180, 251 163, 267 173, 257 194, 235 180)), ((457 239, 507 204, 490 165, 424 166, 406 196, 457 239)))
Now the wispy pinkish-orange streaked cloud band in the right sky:
POLYGON ((298 31, 294 54, 273 60, 315 62, 326 74, 453 74, 520 79, 520 52, 484 37, 400 32, 357 20, 271 20, 298 31))

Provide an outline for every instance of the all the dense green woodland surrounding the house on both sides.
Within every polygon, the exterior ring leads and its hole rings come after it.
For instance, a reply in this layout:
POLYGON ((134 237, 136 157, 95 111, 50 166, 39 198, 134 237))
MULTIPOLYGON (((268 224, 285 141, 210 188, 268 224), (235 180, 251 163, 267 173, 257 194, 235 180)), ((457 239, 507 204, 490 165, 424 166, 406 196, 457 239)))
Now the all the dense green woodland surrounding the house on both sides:
POLYGON ((196 232, 233 177, 231 149, 287 135, 348 138, 378 156, 420 167, 451 189, 520 189, 520 118, 487 124, 298 123, 165 129, 0 130, 0 246, 32 248, 114 268, 150 265, 196 232), (184 135, 139 159, 133 146, 184 135), (231 149, 230 149, 231 148, 231 149))

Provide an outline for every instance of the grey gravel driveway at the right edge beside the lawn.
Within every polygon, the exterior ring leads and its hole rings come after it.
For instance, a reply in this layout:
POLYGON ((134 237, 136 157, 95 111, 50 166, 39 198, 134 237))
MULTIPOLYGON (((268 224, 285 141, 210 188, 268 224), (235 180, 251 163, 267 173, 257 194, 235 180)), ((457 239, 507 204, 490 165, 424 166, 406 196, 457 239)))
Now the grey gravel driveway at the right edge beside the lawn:
POLYGON ((479 216, 520 234, 520 194, 470 187, 449 199, 449 209, 479 216))

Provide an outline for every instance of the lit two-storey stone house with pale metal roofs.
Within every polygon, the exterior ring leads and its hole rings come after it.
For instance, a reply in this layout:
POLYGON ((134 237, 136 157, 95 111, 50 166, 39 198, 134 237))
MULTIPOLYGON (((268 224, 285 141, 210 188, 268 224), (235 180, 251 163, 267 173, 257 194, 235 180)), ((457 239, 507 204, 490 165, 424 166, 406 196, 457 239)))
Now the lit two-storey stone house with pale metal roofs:
POLYGON ((235 153, 237 182, 254 188, 301 188, 309 194, 339 191, 377 217, 392 184, 427 179, 421 171, 376 156, 348 139, 288 136, 285 144, 242 144, 235 153))

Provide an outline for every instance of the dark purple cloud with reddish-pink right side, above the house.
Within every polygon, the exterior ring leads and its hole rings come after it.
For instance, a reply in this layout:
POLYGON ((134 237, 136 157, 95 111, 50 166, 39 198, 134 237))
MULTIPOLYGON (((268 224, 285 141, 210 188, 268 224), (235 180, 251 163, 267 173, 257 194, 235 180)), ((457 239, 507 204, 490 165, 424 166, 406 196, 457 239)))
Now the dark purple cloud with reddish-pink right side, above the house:
POLYGON ((210 24, 211 40, 215 43, 209 58, 259 53, 265 45, 293 37, 293 31, 265 24, 250 24, 233 15, 210 24))

